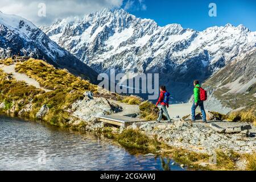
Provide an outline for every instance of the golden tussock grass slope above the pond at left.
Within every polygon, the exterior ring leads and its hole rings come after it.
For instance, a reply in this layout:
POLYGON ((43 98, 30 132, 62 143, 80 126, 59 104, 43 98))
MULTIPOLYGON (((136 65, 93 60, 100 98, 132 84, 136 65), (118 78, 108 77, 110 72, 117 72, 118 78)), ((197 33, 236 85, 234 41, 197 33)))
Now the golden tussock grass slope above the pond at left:
POLYGON ((82 98, 86 90, 97 92, 97 86, 89 81, 68 73, 64 69, 55 69, 42 60, 30 59, 16 65, 16 71, 26 73, 37 80, 45 88, 53 89, 44 92, 34 86, 15 79, 7 80, 7 74, 0 72, 0 101, 5 103, 2 111, 13 107, 13 114, 17 115, 24 106, 31 103, 32 110, 24 113, 23 117, 35 119, 36 113, 43 104, 49 107, 49 112, 43 120, 55 126, 68 126, 69 114, 65 111, 77 99, 82 98))

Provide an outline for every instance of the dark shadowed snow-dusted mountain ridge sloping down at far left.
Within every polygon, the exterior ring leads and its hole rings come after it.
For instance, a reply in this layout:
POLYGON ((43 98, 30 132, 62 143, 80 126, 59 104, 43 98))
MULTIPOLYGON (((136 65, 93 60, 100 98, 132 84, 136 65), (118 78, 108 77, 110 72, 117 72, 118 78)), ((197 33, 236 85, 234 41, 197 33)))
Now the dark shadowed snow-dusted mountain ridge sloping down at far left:
POLYGON ((0 11, 0 57, 27 55, 46 59, 56 67, 67 68, 70 72, 96 81, 97 73, 71 53, 61 48, 30 21, 0 11))

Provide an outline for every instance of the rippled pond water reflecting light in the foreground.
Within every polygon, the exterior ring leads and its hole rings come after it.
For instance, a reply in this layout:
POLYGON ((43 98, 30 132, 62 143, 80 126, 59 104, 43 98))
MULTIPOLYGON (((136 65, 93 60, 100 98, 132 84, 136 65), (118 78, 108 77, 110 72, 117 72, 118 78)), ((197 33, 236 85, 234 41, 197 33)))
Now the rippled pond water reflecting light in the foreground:
POLYGON ((0 170, 184 170, 92 134, 0 115, 0 170))

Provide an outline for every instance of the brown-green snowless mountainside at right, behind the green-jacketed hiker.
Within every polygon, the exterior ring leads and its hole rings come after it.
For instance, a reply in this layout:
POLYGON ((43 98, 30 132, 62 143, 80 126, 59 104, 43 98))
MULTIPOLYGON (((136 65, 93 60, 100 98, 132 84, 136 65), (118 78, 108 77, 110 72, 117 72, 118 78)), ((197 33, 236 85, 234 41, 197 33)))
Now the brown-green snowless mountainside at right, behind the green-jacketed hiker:
MULTIPOLYGON (((210 98, 232 109, 256 107, 256 50, 240 55, 204 83, 210 98)), ((206 104, 208 104, 206 102, 206 104)), ((217 106, 216 106, 217 107, 217 106)))

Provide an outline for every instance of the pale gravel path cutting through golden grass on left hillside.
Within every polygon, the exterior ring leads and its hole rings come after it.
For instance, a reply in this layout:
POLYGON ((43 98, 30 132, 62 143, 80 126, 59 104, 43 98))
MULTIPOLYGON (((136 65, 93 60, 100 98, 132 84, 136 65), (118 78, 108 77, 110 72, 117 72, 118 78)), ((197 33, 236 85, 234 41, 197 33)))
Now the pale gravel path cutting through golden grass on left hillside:
POLYGON ((0 64, 0 69, 2 69, 3 72, 7 74, 10 74, 10 73, 13 74, 13 77, 18 81, 24 81, 28 85, 32 85, 32 86, 35 86, 36 88, 43 89, 46 92, 52 91, 52 90, 42 88, 42 86, 40 86, 38 81, 28 77, 26 74, 15 72, 15 64, 11 64, 11 65, 0 64))

